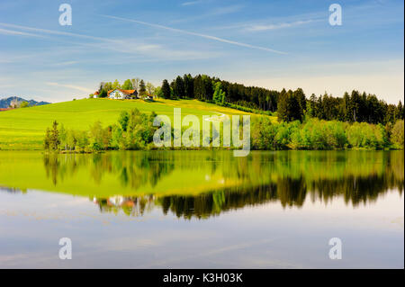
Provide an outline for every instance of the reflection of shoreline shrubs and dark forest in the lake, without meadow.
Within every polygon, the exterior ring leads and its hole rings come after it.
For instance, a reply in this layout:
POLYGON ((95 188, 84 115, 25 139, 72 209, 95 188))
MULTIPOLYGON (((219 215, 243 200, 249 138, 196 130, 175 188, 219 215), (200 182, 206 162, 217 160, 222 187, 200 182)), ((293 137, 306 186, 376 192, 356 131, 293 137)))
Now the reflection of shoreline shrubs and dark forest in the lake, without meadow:
MULTIPOLYGON (((232 187, 199 195, 159 194, 124 197, 112 204, 97 199, 101 211, 124 211, 138 216, 159 206, 186 219, 207 218, 247 205, 279 201, 284 208, 302 207, 305 200, 330 202, 341 197, 357 206, 377 200, 388 190, 404 189, 403 152, 259 152, 251 157, 232 157, 229 152, 123 152, 100 155, 44 157, 53 184, 74 176, 78 169, 90 170, 97 184, 103 176, 114 175, 121 186, 141 192, 142 186, 156 186, 175 169, 195 174, 211 173, 232 187)), ((213 176, 212 176, 213 177, 213 176)), ((175 178, 179 182, 182 178, 175 178)), ((220 186, 220 185, 219 185, 220 186)), ((190 186, 190 190, 193 186, 190 186)))

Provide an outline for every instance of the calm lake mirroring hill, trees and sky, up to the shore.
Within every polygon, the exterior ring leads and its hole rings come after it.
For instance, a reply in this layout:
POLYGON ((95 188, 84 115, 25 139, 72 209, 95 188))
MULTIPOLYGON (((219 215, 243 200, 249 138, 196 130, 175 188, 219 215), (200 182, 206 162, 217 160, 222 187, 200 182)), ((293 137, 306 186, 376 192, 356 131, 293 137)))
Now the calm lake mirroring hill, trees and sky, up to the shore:
POLYGON ((403 190, 403 151, 0 151, 0 268, 403 268, 403 190))

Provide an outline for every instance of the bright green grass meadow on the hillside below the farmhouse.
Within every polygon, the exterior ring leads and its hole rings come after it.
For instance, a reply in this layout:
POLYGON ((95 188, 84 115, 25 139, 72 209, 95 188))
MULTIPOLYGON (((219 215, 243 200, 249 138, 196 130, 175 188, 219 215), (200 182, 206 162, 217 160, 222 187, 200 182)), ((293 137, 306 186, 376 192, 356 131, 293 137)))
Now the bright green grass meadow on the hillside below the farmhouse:
POLYGON ((103 125, 117 122, 121 111, 137 108, 140 112, 166 114, 173 120, 173 109, 182 108, 182 115, 213 115, 215 112, 249 114, 197 100, 85 99, 0 112, 1 149, 41 149, 42 139, 52 121, 63 123, 68 129, 87 130, 95 121, 103 125))

